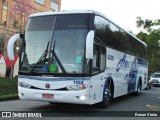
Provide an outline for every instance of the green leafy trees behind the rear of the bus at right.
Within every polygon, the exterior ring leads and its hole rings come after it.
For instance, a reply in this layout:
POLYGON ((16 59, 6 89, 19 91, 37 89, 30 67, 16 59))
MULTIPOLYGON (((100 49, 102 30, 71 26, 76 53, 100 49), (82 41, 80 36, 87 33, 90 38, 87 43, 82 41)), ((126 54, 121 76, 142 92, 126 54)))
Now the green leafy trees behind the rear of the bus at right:
POLYGON ((147 59, 149 74, 160 71, 160 19, 155 21, 137 17, 137 27, 145 31, 140 31, 137 37, 147 44, 147 59))

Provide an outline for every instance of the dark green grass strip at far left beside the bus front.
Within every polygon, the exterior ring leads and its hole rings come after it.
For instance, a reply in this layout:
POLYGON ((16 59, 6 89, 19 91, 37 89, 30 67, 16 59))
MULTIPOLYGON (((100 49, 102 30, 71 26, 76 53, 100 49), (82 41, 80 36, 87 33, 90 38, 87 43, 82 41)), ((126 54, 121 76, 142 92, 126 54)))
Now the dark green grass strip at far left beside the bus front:
POLYGON ((17 78, 0 78, 0 97, 17 94, 17 78))

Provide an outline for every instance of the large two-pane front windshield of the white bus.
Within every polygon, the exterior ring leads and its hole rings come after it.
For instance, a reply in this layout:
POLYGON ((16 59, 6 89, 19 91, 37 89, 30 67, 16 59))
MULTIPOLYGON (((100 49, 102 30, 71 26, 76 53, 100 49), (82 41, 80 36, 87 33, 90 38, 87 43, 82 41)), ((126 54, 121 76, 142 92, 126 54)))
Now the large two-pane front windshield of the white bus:
POLYGON ((30 17, 21 72, 85 73, 87 14, 30 17))

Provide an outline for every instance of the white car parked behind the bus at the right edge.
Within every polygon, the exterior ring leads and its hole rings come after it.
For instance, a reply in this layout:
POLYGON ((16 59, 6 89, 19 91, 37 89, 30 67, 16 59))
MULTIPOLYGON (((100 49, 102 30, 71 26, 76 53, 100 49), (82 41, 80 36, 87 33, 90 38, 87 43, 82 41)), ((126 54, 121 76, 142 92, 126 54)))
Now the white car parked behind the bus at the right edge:
POLYGON ((150 84, 153 86, 160 86, 160 72, 155 72, 150 77, 150 84))

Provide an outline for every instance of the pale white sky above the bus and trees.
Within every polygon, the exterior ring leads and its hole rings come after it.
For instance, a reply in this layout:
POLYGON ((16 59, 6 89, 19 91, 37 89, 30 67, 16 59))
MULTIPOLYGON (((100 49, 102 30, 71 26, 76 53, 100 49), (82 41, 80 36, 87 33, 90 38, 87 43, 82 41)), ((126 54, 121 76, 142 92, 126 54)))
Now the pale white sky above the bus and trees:
POLYGON ((96 10, 125 30, 137 34, 137 16, 160 19, 160 0, 61 0, 61 10, 96 10))

